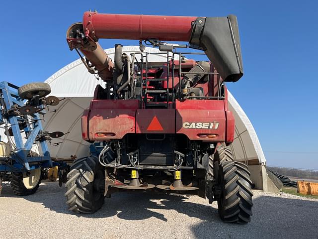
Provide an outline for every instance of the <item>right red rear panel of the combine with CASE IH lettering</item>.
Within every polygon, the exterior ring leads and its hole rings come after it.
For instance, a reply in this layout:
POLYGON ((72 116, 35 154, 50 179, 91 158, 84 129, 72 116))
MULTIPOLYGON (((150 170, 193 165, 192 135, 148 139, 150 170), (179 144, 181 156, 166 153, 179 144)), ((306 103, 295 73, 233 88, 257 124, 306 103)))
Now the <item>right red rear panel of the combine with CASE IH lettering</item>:
POLYGON ((224 142, 226 117, 223 101, 176 101, 176 133, 190 140, 224 142), (210 137, 208 135, 211 135, 210 137))

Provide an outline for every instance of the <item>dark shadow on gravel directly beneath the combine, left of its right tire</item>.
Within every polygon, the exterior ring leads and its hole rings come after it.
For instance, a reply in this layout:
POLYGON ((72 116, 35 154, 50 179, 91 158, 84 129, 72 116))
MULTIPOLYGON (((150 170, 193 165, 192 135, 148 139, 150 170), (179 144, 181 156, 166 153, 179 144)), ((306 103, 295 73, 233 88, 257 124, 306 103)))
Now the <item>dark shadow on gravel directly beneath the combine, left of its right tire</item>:
MULTIPOLYGON (((52 211, 63 214, 72 214, 77 217, 86 218, 108 218, 117 215, 125 220, 144 220, 157 218, 167 222, 164 214, 156 210, 175 210, 178 213, 195 217, 203 221, 220 221, 217 209, 211 205, 202 205, 185 201, 182 195, 167 195, 161 193, 147 192, 119 192, 112 195, 110 199, 105 199, 103 207, 94 214, 74 214, 67 209, 65 204, 65 188, 59 187, 57 182, 43 182, 38 191, 24 199, 41 203, 52 211), (153 202, 152 200, 160 200, 153 202)), ((2 191, 1 197, 16 197, 11 188, 2 191)), ((182 217, 180 215, 180 217, 182 217)))

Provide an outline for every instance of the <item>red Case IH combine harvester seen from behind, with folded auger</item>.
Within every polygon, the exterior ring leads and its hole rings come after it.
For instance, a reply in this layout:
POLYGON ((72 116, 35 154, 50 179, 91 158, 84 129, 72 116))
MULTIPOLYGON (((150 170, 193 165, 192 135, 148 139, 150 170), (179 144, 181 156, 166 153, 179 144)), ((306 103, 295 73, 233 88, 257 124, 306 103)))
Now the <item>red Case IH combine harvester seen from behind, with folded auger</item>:
POLYGON ((224 222, 252 215, 247 166, 226 148, 234 140, 225 82, 243 75, 237 17, 185 17, 85 12, 67 31, 70 49, 85 56, 98 85, 81 119, 91 155, 75 161, 66 183, 73 212, 93 213, 117 191, 162 191, 218 201, 224 222), (115 45, 114 62, 100 38, 139 40, 127 55, 115 45), (186 41, 180 45, 163 41, 186 41), (143 42, 159 47, 146 52, 143 42), (197 52, 210 62, 185 58, 197 52), (164 56, 160 62, 151 55, 164 56))

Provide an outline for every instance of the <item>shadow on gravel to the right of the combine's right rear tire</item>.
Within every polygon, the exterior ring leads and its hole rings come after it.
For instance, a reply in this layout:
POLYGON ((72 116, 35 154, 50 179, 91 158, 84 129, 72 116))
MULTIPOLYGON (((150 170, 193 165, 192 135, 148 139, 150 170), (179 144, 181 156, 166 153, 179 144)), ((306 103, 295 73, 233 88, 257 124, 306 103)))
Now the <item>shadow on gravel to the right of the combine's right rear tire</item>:
POLYGON ((247 225, 207 220, 191 226, 191 231, 197 239, 318 239, 317 201, 258 196, 253 204, 247 225))

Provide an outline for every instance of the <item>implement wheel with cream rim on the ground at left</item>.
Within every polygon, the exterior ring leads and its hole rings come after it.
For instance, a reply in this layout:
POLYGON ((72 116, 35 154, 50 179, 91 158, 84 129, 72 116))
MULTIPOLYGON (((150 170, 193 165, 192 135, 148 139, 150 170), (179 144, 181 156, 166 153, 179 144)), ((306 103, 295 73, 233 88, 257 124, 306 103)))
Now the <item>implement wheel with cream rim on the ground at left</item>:
POLYGON ((41 183, 41 168, 33 169, 24 173, 11 174, 11 187, 17 196, 34 194, 41 183))

